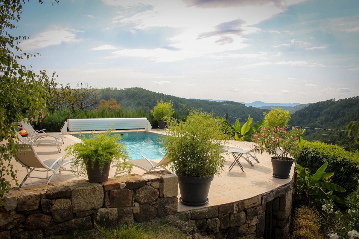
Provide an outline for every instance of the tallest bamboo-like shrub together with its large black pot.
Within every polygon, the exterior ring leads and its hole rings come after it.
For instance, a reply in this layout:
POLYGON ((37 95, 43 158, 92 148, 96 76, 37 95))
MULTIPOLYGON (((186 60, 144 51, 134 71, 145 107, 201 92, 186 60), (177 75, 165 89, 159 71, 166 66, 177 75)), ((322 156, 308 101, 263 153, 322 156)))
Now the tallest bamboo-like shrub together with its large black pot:
POLYGON ((220 121, 213 114, 192 110, 185 121, 167 120, 161 143, 178 176, 183 204, 200 206, 209 201, 211 181, 224 169, 222 148, 226 142, 220 121))

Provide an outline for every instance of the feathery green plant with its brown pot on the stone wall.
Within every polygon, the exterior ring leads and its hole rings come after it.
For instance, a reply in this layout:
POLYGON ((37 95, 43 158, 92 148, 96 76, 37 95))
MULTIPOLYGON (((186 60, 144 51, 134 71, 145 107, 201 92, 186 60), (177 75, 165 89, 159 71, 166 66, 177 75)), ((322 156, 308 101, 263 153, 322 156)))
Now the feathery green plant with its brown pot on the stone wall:
POLYGON ((87 174, 90 182, 105 182, 112 162, 123 170, 131 167, 125 165, 130 158, 126 146, 120 142, 120 134, 111 132, 110 128, 106 133, 92 133, 90 138, 81 138, 81 143, 65 148, 65 157, 73 159, 71 168, 79 167, 78 177, 87 174))

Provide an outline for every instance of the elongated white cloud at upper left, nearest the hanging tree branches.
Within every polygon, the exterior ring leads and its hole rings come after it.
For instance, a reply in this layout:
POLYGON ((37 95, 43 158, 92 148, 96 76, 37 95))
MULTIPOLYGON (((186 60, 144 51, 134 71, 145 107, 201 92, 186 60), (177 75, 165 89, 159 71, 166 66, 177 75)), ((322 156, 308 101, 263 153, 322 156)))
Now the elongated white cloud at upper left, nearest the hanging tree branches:
POLYGON ((78 43, 82 39, 76 38, 76 35, 67 29, 49 30, 34 35, 21 43, 21 49, 24 51, 34 51, 36 49, 65 43, 78 43))

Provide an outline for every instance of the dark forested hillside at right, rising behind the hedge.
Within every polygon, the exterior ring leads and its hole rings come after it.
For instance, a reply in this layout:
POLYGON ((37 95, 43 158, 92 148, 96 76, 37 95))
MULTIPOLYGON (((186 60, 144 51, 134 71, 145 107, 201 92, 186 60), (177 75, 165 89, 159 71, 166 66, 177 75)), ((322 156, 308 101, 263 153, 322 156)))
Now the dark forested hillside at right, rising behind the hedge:
POLYGON ((303 135, 306 140, 320 140, 354 150, 358 144, 345 133, 346 125, 352 120, 359 120, 359 96, 310 104, 292 114, 289 125, 309 127, 303 135))

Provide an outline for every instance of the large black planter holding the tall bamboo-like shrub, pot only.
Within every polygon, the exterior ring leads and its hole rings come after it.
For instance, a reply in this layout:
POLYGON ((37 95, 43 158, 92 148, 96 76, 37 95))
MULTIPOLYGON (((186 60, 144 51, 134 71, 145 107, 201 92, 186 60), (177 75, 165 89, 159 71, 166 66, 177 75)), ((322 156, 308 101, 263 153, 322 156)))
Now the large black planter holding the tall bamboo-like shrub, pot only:
POLYGON ((177 175, 180 187, 180 201, 188 206, 201 206, 208 203, 208 192, 214 175, 208 178, 177 175))

